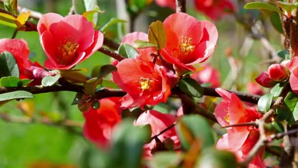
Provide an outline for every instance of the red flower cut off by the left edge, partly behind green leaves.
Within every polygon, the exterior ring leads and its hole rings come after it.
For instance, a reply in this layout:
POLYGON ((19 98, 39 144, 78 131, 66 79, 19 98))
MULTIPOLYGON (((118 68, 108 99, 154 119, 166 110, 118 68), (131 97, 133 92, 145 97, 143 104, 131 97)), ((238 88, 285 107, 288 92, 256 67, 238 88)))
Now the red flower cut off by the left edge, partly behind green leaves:
POLYGON ((21 39, 0 39, 0 53, 10 52, 16 59, 20 79, 34 80, 31 84, 41 84, 43 77, 52 73, 45 71, 38 63, 33 64, 29 60, 29 48, 25 40, 21 39))

